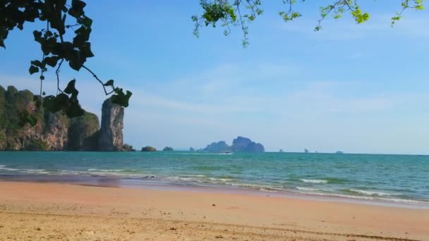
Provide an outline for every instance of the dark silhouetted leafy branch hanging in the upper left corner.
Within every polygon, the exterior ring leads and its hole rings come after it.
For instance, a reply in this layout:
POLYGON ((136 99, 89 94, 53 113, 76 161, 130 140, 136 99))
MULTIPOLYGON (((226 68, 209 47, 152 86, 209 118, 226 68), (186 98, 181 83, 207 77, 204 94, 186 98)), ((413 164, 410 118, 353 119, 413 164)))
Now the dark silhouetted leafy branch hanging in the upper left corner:
POLYGON ((23 30, 27 22, 45 22, 42 30, 34 30, 35 42, 40 44, 42 59, 30 61, 30 74, 40 73, 40 96, 35 97, 37 107, 47 111, 64 111, 69 117, 82 116, 75 80, 60 87, 60 70, 64 62, 73 70, 87 70, 101 85, 106 95, 113 94, 112 101, 128 106, 131 92, 115 87, 114 80, 102 82, 85 63, 94 56, 90 34, 92 19, 85 14, 85 2, 80 0, 0 0, 0 47, 6 48, 5 40, 11 30, 23 30), (55 68, 56 95, 44 95, 42 83, 48 68, 55 68))

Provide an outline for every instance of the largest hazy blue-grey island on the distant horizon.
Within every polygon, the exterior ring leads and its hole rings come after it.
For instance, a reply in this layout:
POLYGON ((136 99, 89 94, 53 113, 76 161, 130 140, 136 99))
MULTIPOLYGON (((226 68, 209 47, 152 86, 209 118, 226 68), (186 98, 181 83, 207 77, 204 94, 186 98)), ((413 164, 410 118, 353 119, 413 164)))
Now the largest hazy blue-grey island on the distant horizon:
POLYGON ((253 142, 247 137, 238 136, 232 141, 231 146, 224 141, 212 142, 201 152, 265 152, 265 148, 262 144, 253 142))

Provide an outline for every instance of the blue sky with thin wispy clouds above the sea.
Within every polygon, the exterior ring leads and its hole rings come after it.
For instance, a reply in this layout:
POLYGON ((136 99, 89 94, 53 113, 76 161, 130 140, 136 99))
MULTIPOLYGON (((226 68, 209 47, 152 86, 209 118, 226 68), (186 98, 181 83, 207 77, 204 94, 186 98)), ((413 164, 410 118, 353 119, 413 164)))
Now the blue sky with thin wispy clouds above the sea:
MULTIPOLYGON (((282 1, 262 1, 243 48, 239 28, 193 36, 198 0, 118 3, 87 1, 95 54, 87 66, 133 92, 123 135, 137 149, 198 149, 241 135, 272 152, 429 154, 428 10, 406 11, 391 27, 399 0, 360 1, 368 23, 344 16, 314 32, 319 2, 298 3, 303 17, 284 23, 282 1)), ((9 34, 0 85, 38 92, 28 67, 42 55, 32 37, 40 28, 9 34)), ((63 68, 61 78, 64 87, 75 78, 83 108, 100 116, 106 97, 92 75, 63 68)))

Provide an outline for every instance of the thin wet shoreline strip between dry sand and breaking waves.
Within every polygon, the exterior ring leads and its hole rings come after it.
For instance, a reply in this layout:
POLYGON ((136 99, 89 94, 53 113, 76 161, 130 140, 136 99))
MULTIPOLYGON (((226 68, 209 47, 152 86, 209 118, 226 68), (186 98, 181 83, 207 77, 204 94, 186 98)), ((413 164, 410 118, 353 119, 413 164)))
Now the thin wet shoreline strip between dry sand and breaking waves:
POLYGON ((368 199, 366 197, 344 197, 334 194, 313 194, 306 192, 258 190, 250 187, 216 185, 213 183, 179 183, 159 179, 120 178, 118 176, 86 176, 86 175, 0 175, 0 182, 22 183, 53 183, 83 185, 93 187, 118 187, 147 190, 171 190, 183 192, 214 192, 227 194, 249 194, 267 197, 282 197, 291 199, 312 200, 318 202, 339 202, 349 204, 365 204, 373 206, 387 206, 404 209, 428 209, 429 203, 394 202, 382 199, 368 199))

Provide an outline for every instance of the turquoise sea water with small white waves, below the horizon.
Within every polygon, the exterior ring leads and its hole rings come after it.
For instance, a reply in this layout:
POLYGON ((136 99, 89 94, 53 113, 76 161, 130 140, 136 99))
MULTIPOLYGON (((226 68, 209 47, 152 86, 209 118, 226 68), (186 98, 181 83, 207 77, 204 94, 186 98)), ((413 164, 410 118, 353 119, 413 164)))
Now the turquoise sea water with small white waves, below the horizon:
POLYGON ((0 177, 108 177, 429 205, 429 156, 0 152, 0 177))

